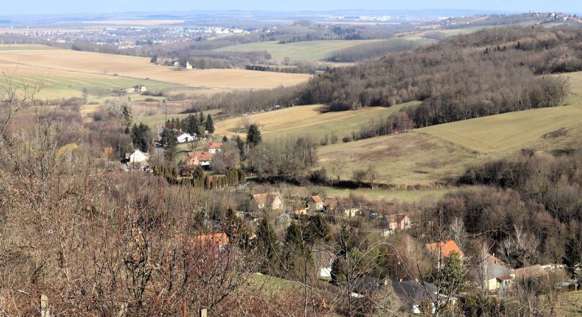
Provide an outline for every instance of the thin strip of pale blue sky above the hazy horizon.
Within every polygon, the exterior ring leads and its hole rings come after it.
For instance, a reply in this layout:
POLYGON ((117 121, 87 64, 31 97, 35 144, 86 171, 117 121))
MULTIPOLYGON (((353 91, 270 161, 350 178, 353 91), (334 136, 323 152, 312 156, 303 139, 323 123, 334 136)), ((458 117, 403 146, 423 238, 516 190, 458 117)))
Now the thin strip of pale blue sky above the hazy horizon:
POLYGON ((2 0, 0 14, 196 10, 332 10, 458 8, 582 13, 582 0, 2 0))

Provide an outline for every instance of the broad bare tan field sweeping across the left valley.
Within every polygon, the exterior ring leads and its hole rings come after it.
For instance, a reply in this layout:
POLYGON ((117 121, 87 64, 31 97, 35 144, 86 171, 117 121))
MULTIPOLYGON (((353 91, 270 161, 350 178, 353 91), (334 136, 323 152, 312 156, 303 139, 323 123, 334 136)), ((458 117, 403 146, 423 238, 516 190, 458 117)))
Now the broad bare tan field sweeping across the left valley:
POLYGON ((108 75, 157 80, 205 89, 266 89, 305 82, 310 75, 238 69, 176 70, 150 63, 150 58, 64 49, 0 51, 0 65, 28 66, 42 73, 75 73, 74 77, 108 75))

